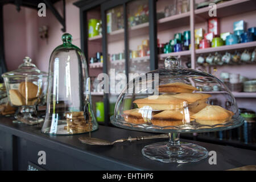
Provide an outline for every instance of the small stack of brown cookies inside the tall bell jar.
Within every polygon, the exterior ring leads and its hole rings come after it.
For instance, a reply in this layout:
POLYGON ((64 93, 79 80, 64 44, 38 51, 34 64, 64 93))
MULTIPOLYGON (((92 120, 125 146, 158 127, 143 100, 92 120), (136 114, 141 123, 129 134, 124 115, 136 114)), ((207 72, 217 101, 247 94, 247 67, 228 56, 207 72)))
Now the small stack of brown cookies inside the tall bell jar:
MULTIPOLYGON (((90 115, 90 114, 89 114, 90 115)), ((92 117, 89 116, 89 121, 84 118, 84 111, 73 111, 65 113, 67 126, 64 127, 69 133, 85 133, 92 131, 92 117)))

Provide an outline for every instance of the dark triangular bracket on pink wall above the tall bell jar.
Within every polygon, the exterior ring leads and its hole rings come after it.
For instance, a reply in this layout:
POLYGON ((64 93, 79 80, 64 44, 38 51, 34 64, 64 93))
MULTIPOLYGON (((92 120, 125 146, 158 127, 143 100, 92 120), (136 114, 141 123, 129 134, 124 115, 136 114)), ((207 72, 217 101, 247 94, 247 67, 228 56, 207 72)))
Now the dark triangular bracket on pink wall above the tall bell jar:
POLYGON ((50 0, 43 0, 44 3, 46 3, 46 6, 48 7, 49 10, 52 11, 52 14, 55 15, 57 20, 60 22, 60 24, 63 26, 61 28, 61 31, 65 32, 66 31, 66 12, 65 12, 65 0, 63 0, 63 17, 59 14, 59 12, 55 9, 53 6, 53 3, 50 0))

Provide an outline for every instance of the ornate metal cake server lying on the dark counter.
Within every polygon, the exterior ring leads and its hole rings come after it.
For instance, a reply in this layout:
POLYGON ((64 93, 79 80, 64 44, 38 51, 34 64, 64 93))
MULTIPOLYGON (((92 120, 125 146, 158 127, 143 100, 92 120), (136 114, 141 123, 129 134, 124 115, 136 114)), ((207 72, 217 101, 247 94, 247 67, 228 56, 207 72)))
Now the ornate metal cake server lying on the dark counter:
POLYGON ((114 142, 109 142, 108 140, 103 140, 99 138, 90 138, 90 137, 80 137, 79 140, 85 144, 92 144, 92 145, 98 145, 98 146, 110 146, 118 142, 126 142, 126 141, 131 142, 131 141, 147 140, 147 139, 155 139, 155 138, 169 138, 169 135, 160 134, 160 135, 149 135, 149 136, 134 137, 134 138, 128 137, 126 139, 115 140, 114 142))

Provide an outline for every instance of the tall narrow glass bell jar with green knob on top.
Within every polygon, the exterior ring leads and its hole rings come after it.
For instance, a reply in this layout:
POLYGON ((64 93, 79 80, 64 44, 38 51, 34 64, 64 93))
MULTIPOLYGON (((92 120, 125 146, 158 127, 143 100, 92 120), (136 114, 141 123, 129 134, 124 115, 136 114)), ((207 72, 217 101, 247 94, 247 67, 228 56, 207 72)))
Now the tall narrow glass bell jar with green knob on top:
POLYGON ((72 135, 98 129, 90 97, 90 78, 84 54, 63 34, 49 60, 47 109, 42 132, 72 135))

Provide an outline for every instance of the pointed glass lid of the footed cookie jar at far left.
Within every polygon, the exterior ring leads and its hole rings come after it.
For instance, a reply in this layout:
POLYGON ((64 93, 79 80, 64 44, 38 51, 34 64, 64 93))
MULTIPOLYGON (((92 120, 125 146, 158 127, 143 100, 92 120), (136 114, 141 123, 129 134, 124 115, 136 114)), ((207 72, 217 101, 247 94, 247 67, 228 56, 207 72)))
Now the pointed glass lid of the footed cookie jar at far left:
POLYGON ((42 72, 31 63, 31 58, 26 56, 23 59, 24 63, 20 64, 18 69, 3 73, 2 77, 47 77, 47 72, 42 72))

